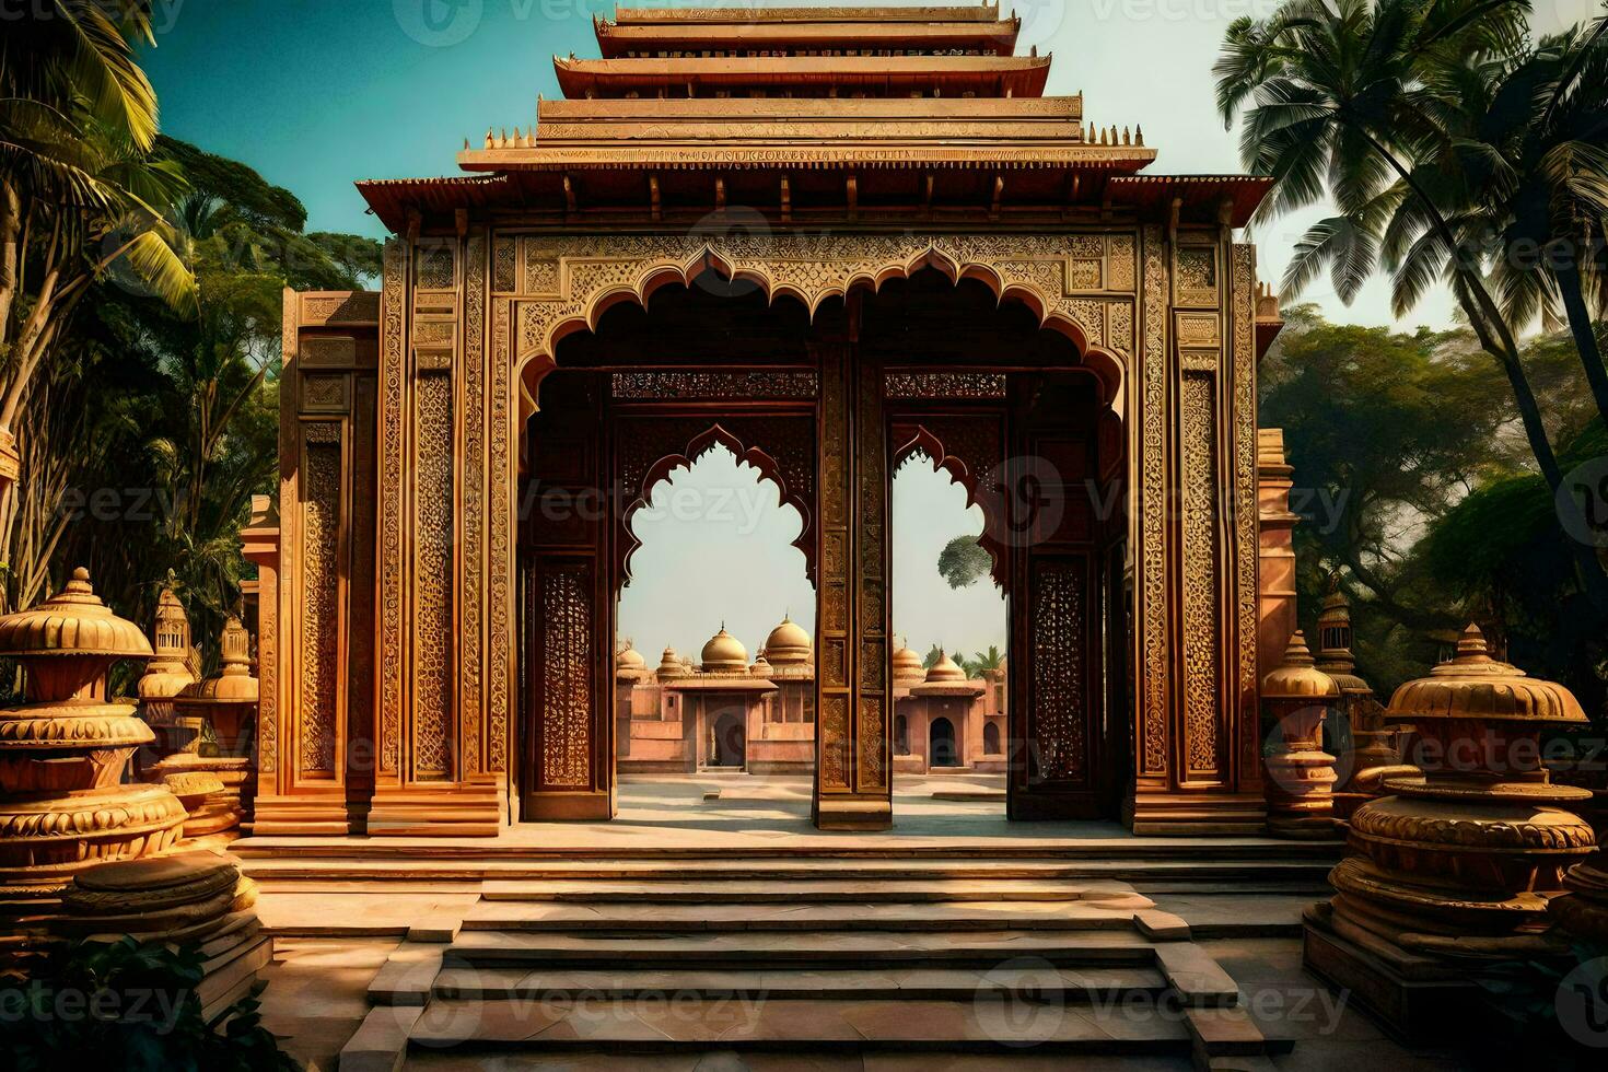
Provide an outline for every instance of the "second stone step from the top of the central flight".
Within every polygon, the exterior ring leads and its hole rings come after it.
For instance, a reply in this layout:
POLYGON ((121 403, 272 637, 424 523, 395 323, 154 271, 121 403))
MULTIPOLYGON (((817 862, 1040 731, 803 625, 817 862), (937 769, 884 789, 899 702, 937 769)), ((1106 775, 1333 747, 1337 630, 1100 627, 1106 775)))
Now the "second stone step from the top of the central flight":
MULTIPOLYGON (((463 931, 736 932, 736 931, 1124 931, 1150 902, 720 903, 563 905, 482 902, 463 931)), ((1155 913, 1159 918, 1164 913, 1155 913)), ((1166 923, 1172 923, 1167 919, 1166 923)), ((461 934, 461 932, 460 932, 461 934)))

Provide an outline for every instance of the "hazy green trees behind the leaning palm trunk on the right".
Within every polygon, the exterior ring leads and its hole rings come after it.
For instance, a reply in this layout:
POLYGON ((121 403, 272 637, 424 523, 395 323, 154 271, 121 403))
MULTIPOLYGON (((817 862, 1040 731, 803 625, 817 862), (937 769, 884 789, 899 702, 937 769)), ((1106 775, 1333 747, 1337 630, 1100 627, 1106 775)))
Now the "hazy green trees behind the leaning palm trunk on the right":
MULTIPOLYGON (((1359 672, 1381 694, 1475 619, 1512 661, 1600 712, 1608 624, 1581 595, 1499 370, 1462 333, 1330 325, 1311 307, 1286 317, 1262 360, 1259 421, 1283 429, 1294 468, 1309 635, 1338 579, 1359 672)), ((1536 339, 1524 362, 1571 442, 1565 468, 1608 455, 1568 334, 1536 339)))

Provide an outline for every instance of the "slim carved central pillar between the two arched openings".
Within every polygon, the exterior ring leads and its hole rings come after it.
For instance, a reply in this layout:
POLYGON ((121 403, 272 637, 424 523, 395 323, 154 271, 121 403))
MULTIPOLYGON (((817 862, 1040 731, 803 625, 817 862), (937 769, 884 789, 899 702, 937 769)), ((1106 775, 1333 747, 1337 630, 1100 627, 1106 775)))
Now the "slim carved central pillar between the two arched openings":
POLYGON ((881 362, 822 329, 815 800, 820 829, 892 824, 888 428, 881 362))

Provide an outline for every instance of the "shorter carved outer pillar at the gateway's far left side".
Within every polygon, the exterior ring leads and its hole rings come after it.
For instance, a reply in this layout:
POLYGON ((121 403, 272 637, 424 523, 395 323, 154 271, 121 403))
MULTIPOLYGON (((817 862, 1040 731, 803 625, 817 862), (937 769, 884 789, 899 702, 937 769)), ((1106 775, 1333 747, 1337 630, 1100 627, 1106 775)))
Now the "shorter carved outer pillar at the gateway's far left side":
POLYGON ((330 834, 362 812, 371 720, 371 293, 285 293, 278 543, 259 569, 257 834, 330 834))

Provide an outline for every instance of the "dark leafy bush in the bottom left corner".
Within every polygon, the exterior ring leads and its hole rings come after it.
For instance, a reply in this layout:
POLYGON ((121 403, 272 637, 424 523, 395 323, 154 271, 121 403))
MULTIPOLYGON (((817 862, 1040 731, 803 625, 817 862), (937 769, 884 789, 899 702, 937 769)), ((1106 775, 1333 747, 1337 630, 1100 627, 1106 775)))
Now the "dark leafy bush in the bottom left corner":
POLYGON ((82 942, 0 990, 0 1046, 18 1072, 281 1072, 296 1069, 244 998, 203 1019, 195 948, 82 942))

